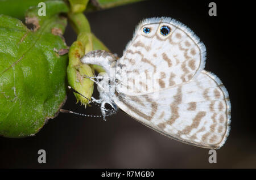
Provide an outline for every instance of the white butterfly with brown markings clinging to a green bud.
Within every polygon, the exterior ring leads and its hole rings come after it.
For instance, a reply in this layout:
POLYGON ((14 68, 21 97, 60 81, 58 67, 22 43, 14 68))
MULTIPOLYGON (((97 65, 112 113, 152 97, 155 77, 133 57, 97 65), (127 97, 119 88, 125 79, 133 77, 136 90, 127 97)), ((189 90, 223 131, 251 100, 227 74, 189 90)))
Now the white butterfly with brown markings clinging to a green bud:
POLYGON ((150 18, 139 23, 121 58, 94 50, 81 62, 100 65, 109 76, 94 80, 102 107, 119 108, 180 142, 218 149, 229 135, 231 106, 221 80, 204 70, 205 59, 205 46, 191 29, 171 18, 150 18))

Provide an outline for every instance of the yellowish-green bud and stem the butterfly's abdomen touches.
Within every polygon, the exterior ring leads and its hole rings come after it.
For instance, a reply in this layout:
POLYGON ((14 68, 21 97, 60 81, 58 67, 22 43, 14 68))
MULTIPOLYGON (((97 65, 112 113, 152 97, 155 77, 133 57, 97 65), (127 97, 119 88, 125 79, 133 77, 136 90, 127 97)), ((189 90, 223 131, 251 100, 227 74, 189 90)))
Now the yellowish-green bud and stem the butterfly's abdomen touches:
MULTIPOLYGON (((78 33, 77 40, 73 42, 69 49, 69 65, 67 68, 68 82, 82 93, 82 95, 90 98, 93 93, 93 82, 85 76, 93 76, 93 70, 89 65, 82 64, 80 58, 93 50, 92 33, 90 33, 90 25, 84 14, 69 14, 69 21, 78 33)), ((86 105, 88 100, 75 93, 77 101, 86 105)))

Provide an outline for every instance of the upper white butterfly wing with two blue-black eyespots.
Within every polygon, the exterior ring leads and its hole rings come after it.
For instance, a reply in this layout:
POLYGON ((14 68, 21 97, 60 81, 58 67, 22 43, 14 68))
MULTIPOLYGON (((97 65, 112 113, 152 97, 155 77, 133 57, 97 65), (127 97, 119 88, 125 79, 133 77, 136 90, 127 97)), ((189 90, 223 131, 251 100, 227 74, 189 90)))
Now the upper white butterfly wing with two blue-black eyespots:
POLYGON ((148 84, 144 80, 135 84, 138 76, 143 74, 149 79, 158 75, 158 88, 188 82, 200 74, 204 64, 205 46, 189 28, 171 18, 146 19, 138 25, 133 40, 117 61, 117 79, 122 80, 117 85, 117 91, 127 95, 155 91, 146 87, 148 84), (170 28, 170 33, 163 36, 162 27, 170 28), (145 33, 144 28, 150 29, 150 33, 145 33), (143 89, 140 89, 141 85, 143 89), (123 87, 130 89, 124 92, 123 87))

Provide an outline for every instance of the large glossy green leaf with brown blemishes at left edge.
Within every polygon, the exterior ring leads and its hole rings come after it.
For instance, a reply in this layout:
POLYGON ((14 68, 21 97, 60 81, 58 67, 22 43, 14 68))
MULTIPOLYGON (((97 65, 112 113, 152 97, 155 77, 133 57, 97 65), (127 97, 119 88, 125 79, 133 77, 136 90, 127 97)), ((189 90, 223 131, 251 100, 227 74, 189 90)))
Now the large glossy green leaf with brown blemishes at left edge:
POLYGON ((59 112, 66 98, 68 54, 61 36, 68 12, 62 1, 46 2, 46 16, 38 7, 27 12, 28 23, 0 15, 0 135, 20 138, 36 134, 59 112))

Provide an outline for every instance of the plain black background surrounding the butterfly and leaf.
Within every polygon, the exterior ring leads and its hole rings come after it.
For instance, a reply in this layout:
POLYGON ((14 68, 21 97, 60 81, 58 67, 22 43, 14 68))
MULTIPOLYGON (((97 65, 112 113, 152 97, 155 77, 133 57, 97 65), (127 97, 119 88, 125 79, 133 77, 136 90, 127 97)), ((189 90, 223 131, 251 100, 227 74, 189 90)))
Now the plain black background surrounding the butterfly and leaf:
MULTIPOLYGON (((209 2, 145 1, 86 16, 92 32, 119 57, 144 18, 169 16, 201 38, 207 47, 205 70, 222 80, 232 104, 231 131, 226 144, 217 150, 217 164, 209 164, 208 149, 176 142, 119 111, 106 122, 59 114, 34 137, 0 137, 0 168, 256 168, 255 70, 250 69, 255 55, 249 55, 255 46, 250 32, 252 5, 214 1, 217 16, 209 16, 209 2), (38 164, 39 149, 46 150, 46 164, 38 164)), ((64 36, 69 46, 76 40, 70 26, 64 36)), ((100 114, 96 107, 84 109, 75 102, 69 93, 63 108, 100 114)))

